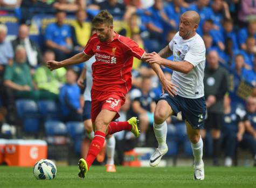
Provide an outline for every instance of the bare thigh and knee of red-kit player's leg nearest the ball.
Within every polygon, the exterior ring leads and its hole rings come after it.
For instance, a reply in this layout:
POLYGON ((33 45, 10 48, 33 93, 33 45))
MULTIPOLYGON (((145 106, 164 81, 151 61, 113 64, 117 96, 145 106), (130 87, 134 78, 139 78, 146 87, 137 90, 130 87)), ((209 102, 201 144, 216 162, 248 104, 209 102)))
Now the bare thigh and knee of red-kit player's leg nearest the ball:
POLYGON ((102 109, 95 120, 95 130, 105 129, 106 131, 108 124, 114 119, 116 112, 102 109))

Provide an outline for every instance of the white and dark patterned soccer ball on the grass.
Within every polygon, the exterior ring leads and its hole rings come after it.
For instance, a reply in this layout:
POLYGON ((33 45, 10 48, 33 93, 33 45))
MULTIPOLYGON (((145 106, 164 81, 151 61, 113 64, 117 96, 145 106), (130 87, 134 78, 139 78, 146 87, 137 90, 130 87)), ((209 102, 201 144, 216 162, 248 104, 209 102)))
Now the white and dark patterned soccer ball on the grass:
POLYGON ((51 160, 41 159, 34 164, 33 173, 37 179, 54 179, 57 168, 51 160))

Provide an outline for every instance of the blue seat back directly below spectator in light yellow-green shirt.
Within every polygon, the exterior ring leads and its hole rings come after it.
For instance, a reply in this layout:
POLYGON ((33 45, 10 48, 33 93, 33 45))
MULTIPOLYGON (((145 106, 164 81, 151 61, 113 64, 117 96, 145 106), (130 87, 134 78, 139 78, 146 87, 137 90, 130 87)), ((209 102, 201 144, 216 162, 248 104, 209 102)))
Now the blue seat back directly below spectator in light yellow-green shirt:
POLYGON ((51 100, 38 101, 38 110, 43 120, 60 120, 60 112, 56 102, 51 100))

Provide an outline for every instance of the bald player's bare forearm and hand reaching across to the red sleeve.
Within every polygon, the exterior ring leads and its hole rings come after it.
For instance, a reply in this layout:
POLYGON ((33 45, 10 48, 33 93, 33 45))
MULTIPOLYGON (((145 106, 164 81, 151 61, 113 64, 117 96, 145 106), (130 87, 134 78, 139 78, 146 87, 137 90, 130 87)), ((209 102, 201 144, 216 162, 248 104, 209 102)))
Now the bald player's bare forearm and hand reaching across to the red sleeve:
POLYGON ((156 52, 148 54, 146 62, 148 62, 149 64, 163 65, 163 66, 171 68, 174 71, 182 72, 185 74, 188 74, 194 67, 188 61, 180 62, 180 61, 171 61, 168 59, 164 59, 164 58, 160 57, 160 55, 157 54, 156 52))

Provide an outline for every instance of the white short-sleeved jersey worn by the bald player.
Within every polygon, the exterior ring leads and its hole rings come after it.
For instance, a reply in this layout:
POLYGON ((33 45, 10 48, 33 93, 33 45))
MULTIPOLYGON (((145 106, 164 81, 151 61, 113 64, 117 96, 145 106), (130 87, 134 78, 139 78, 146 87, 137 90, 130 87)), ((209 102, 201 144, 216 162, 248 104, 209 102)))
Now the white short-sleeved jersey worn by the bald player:
POLYGON ((177 32, 170 41, 169 48, 174 54, 174 61, 188 61, 194 66, 188 74, 177 71, 172 73, 172 83, 176 84, 179 90, 177 94, 191 99, 204 96, 205 45, 203 39, 196 33, 192 38, 184 40, 177 32))

